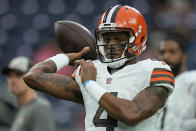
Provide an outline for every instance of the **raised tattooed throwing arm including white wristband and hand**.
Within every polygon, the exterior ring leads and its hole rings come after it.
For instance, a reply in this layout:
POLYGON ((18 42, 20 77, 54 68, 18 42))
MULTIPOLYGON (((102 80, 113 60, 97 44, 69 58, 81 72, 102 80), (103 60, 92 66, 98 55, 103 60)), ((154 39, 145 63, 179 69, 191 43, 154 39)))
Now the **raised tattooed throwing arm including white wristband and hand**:
POLYGON ((79 53, 58 54, 44 62, 36 64, 24 76, 24 81, 33 89, 61 99, 83 103, 78 84, 71 77, 55 73, 69 63, 80 59, 88 51, 89 48, 85 47, 79 53))

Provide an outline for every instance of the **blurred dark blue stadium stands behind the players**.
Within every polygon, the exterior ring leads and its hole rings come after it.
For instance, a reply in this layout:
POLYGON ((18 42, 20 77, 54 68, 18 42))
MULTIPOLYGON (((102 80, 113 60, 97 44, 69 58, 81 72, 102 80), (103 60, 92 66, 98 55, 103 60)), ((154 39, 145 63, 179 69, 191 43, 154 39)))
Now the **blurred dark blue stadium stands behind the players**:
MULTIPOLYGON (((94 34, 101 13, 116 4, 133 6, 146 18, 148 48, 140 59, 156 57, 159 41, 167 33, 175 33, 186 40, 188 69, 196 68, 196 0, 0 0, 0 68, 18 55, 37 63, 58 53, 53 31, 57 20, 78 22, 94 34)), ((70 75, 70 70, 67 67, 60 73, 70 75)), ((0 76, 0 100, 15 112, 14 99, 4 93, 6 86, 6 78, 0 76)), ((58 131, 83 129, 81 106, 40 95, 52 103, 58 131)), ((1 106, 0 112, 1 117, 1 106)), ((9 126, 10 121, 1 123, 9 126)))

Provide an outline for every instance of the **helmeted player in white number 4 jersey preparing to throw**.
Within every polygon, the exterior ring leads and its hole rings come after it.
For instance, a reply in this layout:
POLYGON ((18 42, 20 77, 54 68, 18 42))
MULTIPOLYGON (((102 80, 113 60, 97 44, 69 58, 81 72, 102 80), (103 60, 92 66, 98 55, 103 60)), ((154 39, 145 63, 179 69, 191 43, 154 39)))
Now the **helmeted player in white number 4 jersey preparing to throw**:
POLYGON ((32 88, 84 105, 86 131, 151 131, 174 88, 170 67, 161 61, 136 61, 146 48, 142 14, 116 5, 100 17, 96 29, 99 60, 79 60, 75 77, 56 71, 79 59, 57 54, 35 65, 24 77, 32 88))

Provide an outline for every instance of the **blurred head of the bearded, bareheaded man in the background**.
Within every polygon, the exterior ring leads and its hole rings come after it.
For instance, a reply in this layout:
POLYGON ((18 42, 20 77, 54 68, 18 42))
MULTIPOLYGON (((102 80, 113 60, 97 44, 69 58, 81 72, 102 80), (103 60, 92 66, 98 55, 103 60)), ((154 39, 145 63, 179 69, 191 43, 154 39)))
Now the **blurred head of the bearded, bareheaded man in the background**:
POLYGON ((176 36, 168 36, 160 42, 159 59, 170 65, 175 76, 187 70, 187 55, 184 43, 185 41, 176 36))

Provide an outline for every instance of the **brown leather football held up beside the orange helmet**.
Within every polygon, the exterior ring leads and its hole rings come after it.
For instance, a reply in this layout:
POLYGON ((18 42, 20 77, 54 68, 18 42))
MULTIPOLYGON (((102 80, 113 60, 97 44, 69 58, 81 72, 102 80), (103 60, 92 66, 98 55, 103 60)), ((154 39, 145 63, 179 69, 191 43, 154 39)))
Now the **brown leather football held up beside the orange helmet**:
POLYGON ((83 47, 89 46, 91 50, 82 58, 85 60, 97 58, 95 39, 81 24, 73 21, 57 21, 54 32, 57 44, 64 53, 79 52, 83 47))

